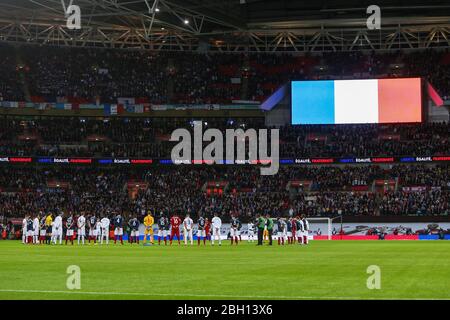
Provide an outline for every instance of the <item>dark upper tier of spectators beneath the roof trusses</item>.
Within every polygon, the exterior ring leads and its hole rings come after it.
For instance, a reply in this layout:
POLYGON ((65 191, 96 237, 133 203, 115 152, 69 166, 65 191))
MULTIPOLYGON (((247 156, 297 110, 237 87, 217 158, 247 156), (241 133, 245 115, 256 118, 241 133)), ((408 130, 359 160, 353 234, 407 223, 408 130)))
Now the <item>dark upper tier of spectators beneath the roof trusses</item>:
POLYGON ((2 45, 0 99, 53 102, 262 101, 290 80, 412 77, 450 96, 450 53, 226 54, 2 45))

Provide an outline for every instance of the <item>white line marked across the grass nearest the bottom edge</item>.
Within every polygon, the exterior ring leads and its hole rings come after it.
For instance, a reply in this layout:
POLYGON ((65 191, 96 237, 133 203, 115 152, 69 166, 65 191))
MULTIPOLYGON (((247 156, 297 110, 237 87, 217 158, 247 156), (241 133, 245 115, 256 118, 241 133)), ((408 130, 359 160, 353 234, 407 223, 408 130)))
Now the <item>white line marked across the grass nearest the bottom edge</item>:
POLYGON ((147 292, 95 292, 95 291, 64 291, 64 290, 15 290, 0 289, 4 293, 50 293, 50 294, 78 294, 100 296, 136 296, 136 297, 192 297, 192 298, 231 298, 231 299, 281 299, 281 300, 448 300, 449 298, 371 298, 371 297, 311 297, 311 296, 250 296, 231 294, 192 294, 192 293, 147 293, 147 292))

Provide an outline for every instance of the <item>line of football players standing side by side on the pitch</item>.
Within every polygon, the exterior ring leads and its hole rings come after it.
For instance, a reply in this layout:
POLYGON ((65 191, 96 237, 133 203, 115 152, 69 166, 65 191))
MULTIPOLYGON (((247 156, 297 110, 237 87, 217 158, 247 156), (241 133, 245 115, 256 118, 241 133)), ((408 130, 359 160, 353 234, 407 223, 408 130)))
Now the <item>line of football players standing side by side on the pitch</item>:
MULTIPOLYGON (((77 236, 78 244, 85 244, 87 240, 89 243, 93 241, 94 244, 106 243, 109 244, 110 237, 114 238, 114 244, 120 242, 123 245, 124 235, 124 219, 120 214, 113 213, 112 219, 107 216, 97 217, 96 215, 89 215, 85 217, 84 213, 79 216, 68 214, 64 219, 64 214, 59 213, 55 218, 50 213, 43 215, 42 212, 32 216, 26 216, 23 219, 22 225, 22 242, 29 244, 62 244, 63 235, 65 235, 65 244, 70 242, 74 244, 75 234, 77 236), (112 220, 112 221, 111 221, 112 220), (88 234, 86 236, 86 231, 88 234)), ((272 240, 273 234, 273 222, 271 218, 267 218, 264 221, 264 239, 272 240)), ((147 243, 147 239, 150 238, 150 243, 154 244, 154 224, 155 219, 149 211, 144 217, 144 244, 147 243)), ((193 232, 194 221, 189 214, 182 220, 178 214, 172 215, 169 219, 162 213, 157 220, 158 232, 157 239, 158 244, 161 245, 161 241, 164 244, 172 242, 177 238, 178 244, 181 244, 181 231, 183 232, 184 244, 190 243, 193 245, 193 232)), ((292 218, 278 218, 277 219, 277 238, 278 244, 308 244, 308 231, 309 223, 304 216, 292 217, 292 218)), ((128 221, 128 242, 130 244, 139 244, 140 222, 137 216, 133 216, 128 221)), ((197 244, 200 245, 203 242, 206 245, 206 241, 211 241, 211 244, 215 244, 215 240, 218 240, 218 244, 222 244, 221 239, 221 227, 222 220, 215 214, 214 217, 209 220, 206 217, 200 216, 197 221, 197 244)), ((260 227, 258 222, 249 222, 247 225, 248 242, 253 242, 255 239, 255 233, 257 228, 260 227)), ((231 239, 231 245, 237 245, 242 241, 242 223, 237 216, 231 217, 230 232, 228 234, 231 239)))

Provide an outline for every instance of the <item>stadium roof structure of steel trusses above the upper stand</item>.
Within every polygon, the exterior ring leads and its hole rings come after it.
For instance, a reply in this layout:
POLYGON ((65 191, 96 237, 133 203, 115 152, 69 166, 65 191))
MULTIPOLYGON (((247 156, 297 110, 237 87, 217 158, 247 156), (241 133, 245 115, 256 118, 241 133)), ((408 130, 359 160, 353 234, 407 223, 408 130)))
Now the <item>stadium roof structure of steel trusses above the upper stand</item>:
POLYGON ((450 47, 447 0, 1 0, 0 41, 226 52, 450 47), (81 9, 81 29, 64 8, 81 9))

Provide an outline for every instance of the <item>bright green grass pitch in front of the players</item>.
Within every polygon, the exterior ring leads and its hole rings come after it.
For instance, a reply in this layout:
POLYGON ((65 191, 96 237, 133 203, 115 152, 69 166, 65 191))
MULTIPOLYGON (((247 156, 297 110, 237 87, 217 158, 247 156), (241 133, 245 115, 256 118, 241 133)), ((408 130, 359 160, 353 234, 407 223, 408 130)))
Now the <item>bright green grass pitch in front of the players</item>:
POLYGON ((307 247, 31 246, 0 241, 0 299, 449 299, 450 241, 307 247), (81 289, 66 287, 69 265, 81 289), (381 289, 366 286, 381 268, 381 289))

